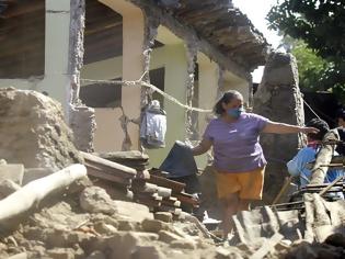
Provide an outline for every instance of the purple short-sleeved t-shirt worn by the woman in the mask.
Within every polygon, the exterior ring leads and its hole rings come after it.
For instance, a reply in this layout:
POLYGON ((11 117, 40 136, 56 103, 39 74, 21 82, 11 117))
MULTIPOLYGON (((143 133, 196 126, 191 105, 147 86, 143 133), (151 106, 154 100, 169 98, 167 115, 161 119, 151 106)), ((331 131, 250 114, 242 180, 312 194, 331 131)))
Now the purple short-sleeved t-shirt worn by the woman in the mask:
POLYGON ((214 166, 219 171, 244 172, 265 166, 266 159, 258 143, 258 134, 269 120, 243 112, 235 122, 210 121, 204 138, 214 146, 214 166))

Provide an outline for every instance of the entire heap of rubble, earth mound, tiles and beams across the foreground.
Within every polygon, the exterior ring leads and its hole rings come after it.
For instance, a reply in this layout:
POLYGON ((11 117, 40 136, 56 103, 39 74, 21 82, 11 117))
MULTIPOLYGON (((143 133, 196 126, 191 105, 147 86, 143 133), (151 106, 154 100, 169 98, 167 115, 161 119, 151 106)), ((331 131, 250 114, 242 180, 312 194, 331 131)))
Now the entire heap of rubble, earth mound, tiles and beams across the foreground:
MULTIPOLYGON (((128 161, 123 156, 129 154, 78 151, 51 99, 13 89, 1 90, 0 99, 0 125, 11 128, 0 128, 0 258, 345 256, 344 201, 306 193, 298 210, 241 212, 231 238, 221 240, 181 210, 183 203, 192 210, 198 204, 184 193, 184 183, 148 171, 148 157, 135 153, 128 161)), ((209 177, 200 178, 204 189, 214 185, 209 177)))

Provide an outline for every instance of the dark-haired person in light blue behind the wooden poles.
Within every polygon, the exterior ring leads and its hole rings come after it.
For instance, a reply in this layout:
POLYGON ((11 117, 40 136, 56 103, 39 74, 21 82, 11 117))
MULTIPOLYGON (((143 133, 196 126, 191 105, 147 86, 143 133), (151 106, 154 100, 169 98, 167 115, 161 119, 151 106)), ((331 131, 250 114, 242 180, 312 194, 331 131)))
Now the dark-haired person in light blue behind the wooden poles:
MULTIPOLYGON (((317 134, 308 134, 308 145, 298 151, 292 160, 287 162, 288 171, 291 176, 300 178, 300 187, 304 187, 309 183, 311 178, 311 162, 315 161, 318 151, 320 149, 320 143, 323 136, 330 131, 326 122, 320 119, 311 120, 307 126, 315 127, 320 132, 317 134)), ((329 169, 325 176, 324 182, 330 183, 340 176, 344 176, 343 169, 329 169)))

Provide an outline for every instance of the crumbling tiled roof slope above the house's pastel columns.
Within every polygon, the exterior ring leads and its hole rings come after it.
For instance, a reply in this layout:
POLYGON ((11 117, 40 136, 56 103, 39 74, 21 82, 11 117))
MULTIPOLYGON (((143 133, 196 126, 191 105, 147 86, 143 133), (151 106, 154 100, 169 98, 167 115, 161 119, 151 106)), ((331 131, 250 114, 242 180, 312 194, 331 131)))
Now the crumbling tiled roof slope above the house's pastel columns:
POLYGON ((269 44, 231 0, 156 2, 237 64, 249 70, 265 64, 269 44))

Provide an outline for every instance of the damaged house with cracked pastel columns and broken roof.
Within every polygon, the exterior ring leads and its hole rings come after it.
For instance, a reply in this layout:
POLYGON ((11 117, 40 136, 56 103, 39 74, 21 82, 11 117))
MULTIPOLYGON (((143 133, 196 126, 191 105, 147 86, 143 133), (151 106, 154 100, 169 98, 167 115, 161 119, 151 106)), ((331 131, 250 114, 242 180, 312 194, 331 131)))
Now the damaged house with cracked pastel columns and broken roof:
POLYGON ((251 71, 268 53, 230 0, 4 1, 0 21, 0 87, 60 101, 80 149, 140 149, 140 111, 159 100, 166 148, 148 150, 153 166, 176 139, 198 139, 222 91, 237 89, 250 103, 251 71), (174 99, 110 82, 139 79, 174 99))

